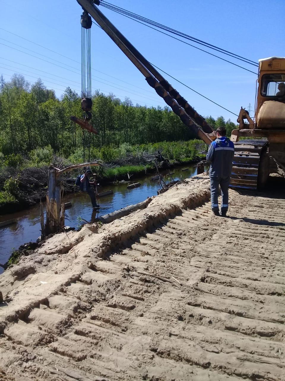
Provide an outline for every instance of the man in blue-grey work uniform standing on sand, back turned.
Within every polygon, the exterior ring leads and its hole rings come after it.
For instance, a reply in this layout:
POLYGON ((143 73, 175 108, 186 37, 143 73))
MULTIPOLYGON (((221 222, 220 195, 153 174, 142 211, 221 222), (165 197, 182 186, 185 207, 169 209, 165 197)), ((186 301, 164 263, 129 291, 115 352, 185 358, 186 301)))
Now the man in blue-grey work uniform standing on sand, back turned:
POLYGON ((216 130, 217 139, 213 141, 206 156, 211 163, 209 176, 211 184, 212 211, 215 216, 226 217, 228 211, 229 185, 231 169, 233 166, 234 144, 226 137, 225 127, 218 127, 216 130), (222 193, 221 214, 218 207, 219 185, 222 193))

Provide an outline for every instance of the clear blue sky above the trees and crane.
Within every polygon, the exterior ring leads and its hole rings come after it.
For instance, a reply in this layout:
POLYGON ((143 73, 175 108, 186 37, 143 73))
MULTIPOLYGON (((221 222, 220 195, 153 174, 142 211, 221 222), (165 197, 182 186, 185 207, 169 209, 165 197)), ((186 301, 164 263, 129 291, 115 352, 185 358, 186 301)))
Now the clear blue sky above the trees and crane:
MULTIPOLYGON (((270 2, 265 0, 218 2, 213 0, 203 2, 109 0, 109 2, 256 62, 259 58, 285 56, 285 1, 283 0, 270 2)), ((254 74, 106 8, 100 7, 100 9, 150 62, 236 114, 241 106, 247 107, 251 103, 254 107, 256 81, 254 74)), ((8 81, 14 72, 20 72, 31 83, 40 77, 47 88, 54 88, 59 97, 67 86, 80 94, 81 13, 81 7, 76 0, 45 2, 2 0, 0 2, 1 28, 70 59, 0 29, 0 74, 3 74, 8 81), (32 54, 34 57, 19 50, 32 54), (7 61, 8 59, 14 62, 7 61), (23 65, 30 66, 32 69, 23 65)), ((91 36, 94 76, 92 90, 100 89, 106 94, 112 92, 122 100, 127 96, 134 104, 165 105, 155 91, 147 85, 136 67, 95 24, 92 26, 91 36)), ((212 53, 215 52, 212 51, 212 53)), ((224 56, 224 58, 227 57, 224 56)), ((233 62, 255 71, 253 66, 236 60, 233 62)), ((215 118, 223 115, 226 119, 231 118, 234 122, 236 121, 234 115, 220 109, 173 79, 168 77, 166 79, 201 115, 212 115, 215 118)))

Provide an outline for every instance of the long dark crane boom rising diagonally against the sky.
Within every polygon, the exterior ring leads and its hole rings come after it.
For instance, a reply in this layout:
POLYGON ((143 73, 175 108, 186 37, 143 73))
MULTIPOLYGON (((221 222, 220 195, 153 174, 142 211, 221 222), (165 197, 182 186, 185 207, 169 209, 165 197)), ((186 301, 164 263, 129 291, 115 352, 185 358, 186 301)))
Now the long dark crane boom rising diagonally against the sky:
MULTIPOLYGON (((125 38, 122 33, 106 18, 106 16, 93 4, 92 0, 77 0, 79 5, 109 35, 123 53, 139 69, 146 78, 147 83, 155 89, 157 94, 164 99, 173 112, 180 117, 182 122, 202 139, 207 145, 212 139, 209 134, 213 129, 206 120, 188 104, 188 102, 176 91, 168 81, 147 61, 141 53, 125 38)), ((96 4, 99 5, 99 1, 96 4)), ((215 136, 214 136, 215 137, 215 136)))

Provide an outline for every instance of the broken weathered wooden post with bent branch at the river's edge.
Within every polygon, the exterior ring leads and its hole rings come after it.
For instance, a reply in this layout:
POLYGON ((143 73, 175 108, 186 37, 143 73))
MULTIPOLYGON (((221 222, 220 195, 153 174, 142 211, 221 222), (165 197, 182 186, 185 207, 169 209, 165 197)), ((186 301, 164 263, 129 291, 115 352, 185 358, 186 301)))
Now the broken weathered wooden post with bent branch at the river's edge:
POLYGON ((67 171, 71 171, 82 166, 101 165, 101 160, 95 162, 70 165, 63 170, 49 166, 46 194, 46 223, 44 223, 44 210, 41 205, 41 235, 42 237, 53 234, 64 226, 65 206, 61 202, 61 181, 59 176, 67 171))

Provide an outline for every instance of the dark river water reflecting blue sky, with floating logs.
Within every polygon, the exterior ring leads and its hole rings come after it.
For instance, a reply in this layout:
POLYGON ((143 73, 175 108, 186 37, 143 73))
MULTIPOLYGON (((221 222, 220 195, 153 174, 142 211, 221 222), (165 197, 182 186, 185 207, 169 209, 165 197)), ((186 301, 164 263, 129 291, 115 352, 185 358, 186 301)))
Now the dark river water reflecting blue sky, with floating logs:
MULTIPOLYGON (((168 171, 161 172, 166 174, 168 171)), ((176 169, 171 169, 174 172, 172 177, 175 180, 192 177, 196 174, 196 167, 186 165, 176 169), (187 171, 182 171, 183 168, 189 168, 187 171)), ((151 181, 150 178, 154 174, 144 178, 135 179, 134 182, 140 182, 141 186, 135 189, 127 189, 127 184, 109 185, 98 187, 98 193, 113 190, 113 194, 101 197, 99 199, 100 209, 94 212, 90 203, 90 198, 84 193, 73 193, 66 195, 63 202, 71 202, 72 207, 65 211, 65 225, 70 227, 78 227, 78 219, 84 219, 88 222, 96 217, 103 216, 115 210, 125 208, 128 205, 133 205, 144 201, 147 197, 157 195, 159 189, 158 182, 151 181)), ((166 179, 164 179, 166 181, 166 179)), ((167 181, 166 181, 167 182, 167 181)), ((17 213, 0 216, 0 222, 9 219, 17 219, 17 223, 0 229, 0 263, 5 263, 12 251, 27 242, 35 242, 41 235, 40 226, 40 204, 35 207, 23 210, 17 213)), ((85 223, 86 221, 83 221, 85 223)), ((0 267, 0 274, 3 272, 0 267)))

